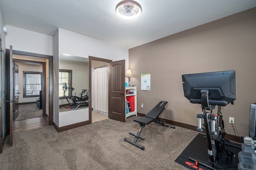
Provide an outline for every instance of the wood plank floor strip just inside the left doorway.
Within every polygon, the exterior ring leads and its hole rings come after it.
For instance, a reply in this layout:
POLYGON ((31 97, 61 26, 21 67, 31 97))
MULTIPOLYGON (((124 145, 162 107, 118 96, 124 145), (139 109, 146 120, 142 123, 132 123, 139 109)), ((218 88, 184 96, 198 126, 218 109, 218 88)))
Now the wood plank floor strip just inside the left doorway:
POLYGON ((36 117, 32 119, 25 119, 21 121, 13 122, 13 133, 21 132, 24 130, 31 130, 34 128, 40 128, 49 126, 48 119, 46 117, 36 117))

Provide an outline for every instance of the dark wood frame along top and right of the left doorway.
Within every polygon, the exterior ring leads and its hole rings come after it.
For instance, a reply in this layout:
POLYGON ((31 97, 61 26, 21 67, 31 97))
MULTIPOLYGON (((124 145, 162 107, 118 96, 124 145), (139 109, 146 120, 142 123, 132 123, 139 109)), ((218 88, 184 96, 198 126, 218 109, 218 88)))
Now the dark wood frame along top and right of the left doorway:
MULTIPOLYGON (((10 49, 6 49, 6 53, 10 53, 10 49)), ((12 50, 12 54, 48 59, 48 67, 49 67, 49 76, 48 76, 48 79, 49 79, 49 103, 48 103, 49 116, 48 116, 48 120, 49 120, 49 126, 53 125, 53 56, 38 54, 38 53, 30 53, 30 52, 25 52, 25 51, 18 51, 18 50, 12 50)), ((15 59, 15 60, 17 60, 17 59, 15 59)), ((30 61, 30 62, 32 63, 32 61, 30 61)), ((39 62, 39 61, 36 61, 36 62, 39 62)), ((43 75, 43 77, 45 77, 45 75, 43 75)), ((43 89, 43 91, 44 91, 44 93, 43 93, 43 108, 46 108, 46 103, 45 103, 46 102, 46 89, 43 89)))

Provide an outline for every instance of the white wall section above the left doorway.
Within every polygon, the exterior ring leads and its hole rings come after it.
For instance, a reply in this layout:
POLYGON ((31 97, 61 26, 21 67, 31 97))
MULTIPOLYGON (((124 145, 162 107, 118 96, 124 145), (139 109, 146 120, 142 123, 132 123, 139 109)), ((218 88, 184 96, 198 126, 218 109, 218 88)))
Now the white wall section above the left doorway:
POLYGON ((12 49, 14 50, 52 55, 52 36, 24 30, 14 26, 6 26, 8 32, 6 35, 7 49, 10 49, 10 45, 12 45, 12 49))

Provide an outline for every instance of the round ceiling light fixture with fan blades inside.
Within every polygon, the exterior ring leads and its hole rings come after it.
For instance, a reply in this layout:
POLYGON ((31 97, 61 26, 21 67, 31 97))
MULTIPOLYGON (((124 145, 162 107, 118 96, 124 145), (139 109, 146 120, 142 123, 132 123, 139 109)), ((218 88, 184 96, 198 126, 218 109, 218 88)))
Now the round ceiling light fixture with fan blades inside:
POLYGON ((116 5, 116 14, 124 20, 134 20, 141 12, 140 4, 134 0, 123 0, 116 5))

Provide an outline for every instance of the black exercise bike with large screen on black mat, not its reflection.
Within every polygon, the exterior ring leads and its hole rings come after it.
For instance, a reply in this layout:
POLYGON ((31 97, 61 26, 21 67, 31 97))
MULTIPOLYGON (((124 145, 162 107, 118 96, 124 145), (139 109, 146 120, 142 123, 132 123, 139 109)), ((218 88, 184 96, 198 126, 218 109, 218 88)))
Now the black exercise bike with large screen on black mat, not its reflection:
POLYGON ((224 137, 226 132, 220 110, 222 106, 229 103, 234 104, 236 100, 236 72, 231 70, 184 74, 182 75, 182 87, 184 96, 190 103, 201 104, 203 114, 197 114, 197 130, 203 132, 201 119, 204 119, 203 126, 210 166, 192 158, 189 159, 196 162, 196 164, 199 163, 208 169, 214 170, 216 160, 220 158, 220 154, 225 150, 224 137), (214 114, 213 110, 216 106, 218 106, 218 113, 214 114))

